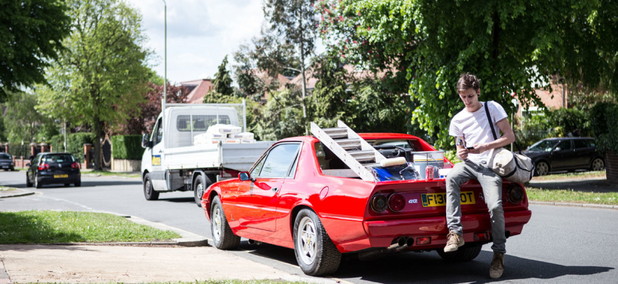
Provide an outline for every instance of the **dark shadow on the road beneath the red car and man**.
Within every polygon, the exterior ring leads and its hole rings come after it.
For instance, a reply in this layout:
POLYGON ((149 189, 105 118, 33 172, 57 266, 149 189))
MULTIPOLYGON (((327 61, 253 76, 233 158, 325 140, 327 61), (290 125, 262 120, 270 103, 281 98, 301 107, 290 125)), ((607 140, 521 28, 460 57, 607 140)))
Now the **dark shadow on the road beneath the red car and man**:
MULTIPOLYGON (((241 249, 256 256, 297 266, 294 251, 272 245, 249 245, 242 242, 241 249)), ((490 283, 489 263, 493 252, 481 251, 474 261, 450 263, 443 261, 435 251, 425 253, 399 253, 376 261, 350 260, 344 256, 339 270, 332 277, 360 278, 374 283, 490 283)), ((517 256, 504 257, 506 270, 500 280, 554 279, 565 275, 593 275, 613 270, 602 266, 563 266, 517 256)))

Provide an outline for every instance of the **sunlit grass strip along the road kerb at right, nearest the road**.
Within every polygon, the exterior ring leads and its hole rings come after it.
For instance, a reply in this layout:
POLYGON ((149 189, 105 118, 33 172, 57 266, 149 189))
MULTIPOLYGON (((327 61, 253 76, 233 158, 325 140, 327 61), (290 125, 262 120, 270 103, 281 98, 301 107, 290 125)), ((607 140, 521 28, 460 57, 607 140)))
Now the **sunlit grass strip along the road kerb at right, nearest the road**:
POLYGON ((580 192, 538 187, 526 187, 526 192, 530 201, 618 205, 618 192, 580 192))

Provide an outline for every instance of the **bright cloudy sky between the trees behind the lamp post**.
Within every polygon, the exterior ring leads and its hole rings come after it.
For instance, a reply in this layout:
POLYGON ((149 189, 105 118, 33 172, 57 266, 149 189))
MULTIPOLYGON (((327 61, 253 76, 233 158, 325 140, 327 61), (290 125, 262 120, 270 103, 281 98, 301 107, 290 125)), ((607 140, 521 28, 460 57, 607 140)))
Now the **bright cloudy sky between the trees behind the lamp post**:
MULTIPOLYGON (((126 0, 139 9, 151 65, 163 77, 164 17, 162 0, 126 0)), ((225 55, 259 35, 264 21, 261 0, 167 0, 168 80, 172 83, 212 78, 225 55)), ((228 65, 228 69, 229 69, 228 65)))

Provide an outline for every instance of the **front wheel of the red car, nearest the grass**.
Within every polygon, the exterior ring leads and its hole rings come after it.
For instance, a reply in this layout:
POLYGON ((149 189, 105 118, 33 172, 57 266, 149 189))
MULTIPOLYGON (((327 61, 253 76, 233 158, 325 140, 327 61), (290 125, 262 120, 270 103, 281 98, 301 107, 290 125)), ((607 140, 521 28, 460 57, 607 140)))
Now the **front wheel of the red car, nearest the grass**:
POLYGON ((234 235, 227 223, 219 196, 212 199, 212 206, 210 206, 210 231, 217 249, 236 249, 240 244, 240 237, 234 235))

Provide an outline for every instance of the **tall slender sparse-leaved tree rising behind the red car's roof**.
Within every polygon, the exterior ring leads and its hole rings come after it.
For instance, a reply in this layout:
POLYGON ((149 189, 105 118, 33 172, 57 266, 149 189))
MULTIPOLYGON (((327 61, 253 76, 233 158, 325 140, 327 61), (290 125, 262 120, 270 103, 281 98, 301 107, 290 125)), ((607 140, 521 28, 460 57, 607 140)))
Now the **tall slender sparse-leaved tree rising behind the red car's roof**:
POLYGON ((305 59, 315 48, 318 20, 313 8, 315 0, 266 0, 264 15, 270 22, 270 30, 283 37, 287 45, 298 49, 300 58, 300 75, 303 77, 301 92, 303 100, 303 117, 307 117, 304 104, 307 87, 305 79, 305 59))

